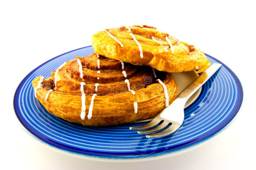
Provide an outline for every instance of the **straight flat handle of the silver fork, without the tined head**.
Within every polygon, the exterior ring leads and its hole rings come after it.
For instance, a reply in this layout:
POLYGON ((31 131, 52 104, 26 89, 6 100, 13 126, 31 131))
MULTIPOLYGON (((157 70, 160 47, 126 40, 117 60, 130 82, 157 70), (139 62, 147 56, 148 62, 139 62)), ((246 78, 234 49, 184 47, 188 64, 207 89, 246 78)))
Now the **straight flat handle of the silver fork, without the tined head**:
POLYGON ((221 64, 213 63, 207 70, 204 71, 195 81, 188 85, 176 97, 188 101, 188 99, 221 67, 221 64))

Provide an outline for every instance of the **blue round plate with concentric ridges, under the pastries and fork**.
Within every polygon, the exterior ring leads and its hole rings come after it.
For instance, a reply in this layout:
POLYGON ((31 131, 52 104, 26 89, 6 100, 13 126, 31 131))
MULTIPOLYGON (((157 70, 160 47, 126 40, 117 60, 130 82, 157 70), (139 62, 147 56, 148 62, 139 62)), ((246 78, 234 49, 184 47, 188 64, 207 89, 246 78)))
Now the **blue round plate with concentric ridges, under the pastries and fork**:
POLYGON ((198 98, 185 109, 185 120, 174 134, 148 139, 129 127, 147 122, 116 126, 90 127, 69 123, 53 116, 34 97, 32 80, 49 77, 62 63, 74 56, 93 53, 92 46, 61 54, 31 71, 18 86, 14 110, 21 126, 32 136, 53 148, 85 159, 100 161, 143 161, 182 153, 212 138, 231 124, 243 100, 237 76, 219 60, 206 54, 222 67, 202 87, 198 98))

